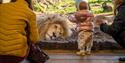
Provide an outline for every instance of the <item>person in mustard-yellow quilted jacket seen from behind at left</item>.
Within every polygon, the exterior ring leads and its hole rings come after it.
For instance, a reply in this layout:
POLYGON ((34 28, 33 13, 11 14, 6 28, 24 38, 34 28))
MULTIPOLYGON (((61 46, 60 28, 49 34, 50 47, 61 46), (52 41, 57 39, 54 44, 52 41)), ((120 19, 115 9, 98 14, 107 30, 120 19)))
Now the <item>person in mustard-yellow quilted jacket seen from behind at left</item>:
POLYGON ((31 0, 0 4, 0 63, 27 63, 27 40, 32 43, 39 40, 36 16, 29 8, 28 1, 31 0))

